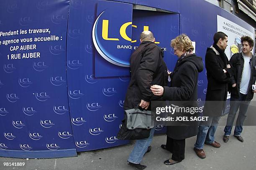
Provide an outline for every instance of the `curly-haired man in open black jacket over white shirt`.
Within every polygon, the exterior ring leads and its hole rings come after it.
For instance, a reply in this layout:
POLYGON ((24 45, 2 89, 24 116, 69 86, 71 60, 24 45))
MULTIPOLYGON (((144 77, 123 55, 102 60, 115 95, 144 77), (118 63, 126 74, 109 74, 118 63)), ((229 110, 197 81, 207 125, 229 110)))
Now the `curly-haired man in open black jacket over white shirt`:
POLYGON ((239 113, 236 119, 234 136, 236 136, 239 141, 243 142, 243 138, 241 137, 243 121, 246 118, 246 112, 253 98, 253 93, 256 92, 256 90, 252 89, 252 85, 255 84, 256 80, 256 57, 251 53, 254 42, 249 36, 241 37, 241 42, 243 51, 234 54, 230 58, 230 63, 234 67, 235 75, 231 77, 230 111, 224 129, 224 142, 228 142, 229 140, 238 108, 239 113))

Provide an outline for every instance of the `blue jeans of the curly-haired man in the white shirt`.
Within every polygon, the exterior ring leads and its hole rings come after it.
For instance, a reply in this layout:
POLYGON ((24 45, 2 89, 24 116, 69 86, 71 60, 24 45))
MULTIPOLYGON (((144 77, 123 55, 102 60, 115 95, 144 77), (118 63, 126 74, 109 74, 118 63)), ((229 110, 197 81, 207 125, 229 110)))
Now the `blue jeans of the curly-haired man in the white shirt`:
POLYGON ((235 136, 240 136, 243 131, 243 122, 246 118, 246 112, 248 109, 248 105, 250 104, 250 101, 246 101, 246 96, 242 93, 240 93, 240 97, 236 98, 231 95, 230 97, 230 110, 228 113, 227 123, 224 128, 225 136, 229 136, 231 134, 231 130, 233 127, 234 120, 236 118, 236 112, 239 108, 238 117, 236 119, 236 128, 234 130, 235 136))

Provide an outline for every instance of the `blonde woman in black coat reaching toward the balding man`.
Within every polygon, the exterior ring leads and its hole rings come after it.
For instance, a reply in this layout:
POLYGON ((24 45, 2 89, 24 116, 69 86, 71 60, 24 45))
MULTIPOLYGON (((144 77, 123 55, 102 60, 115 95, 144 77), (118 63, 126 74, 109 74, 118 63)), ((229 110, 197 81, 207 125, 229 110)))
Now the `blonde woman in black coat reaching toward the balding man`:
MULTIPOLYGON (((152 85, 151 91, 165 100, 191 101, 189 103, 197 107, 197 79, 198 73, 203 70, 202 58, 193 53, 194 47, 187 35, 176 37, 171 46, 178 57, 174 71, 170 74, 171 86, 152 85)), ((188 126, 167 126, 166 145, 161 145, 161 148, 169 150, 172 158, 164 161, 164 164, 173 165, 184 160, 185 139, 197 135, 197 132, 198 122, 188 126)))

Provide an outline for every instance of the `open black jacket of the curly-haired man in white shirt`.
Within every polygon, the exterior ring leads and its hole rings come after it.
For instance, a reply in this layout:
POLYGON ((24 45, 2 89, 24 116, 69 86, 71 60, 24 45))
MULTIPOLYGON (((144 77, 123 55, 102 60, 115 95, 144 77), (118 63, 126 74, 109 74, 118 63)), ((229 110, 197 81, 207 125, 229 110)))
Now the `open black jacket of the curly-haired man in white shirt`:
MULTIPOLYGON (((235 71, 234 76, 231 77, 231 83, 229 86, 230 92, 232 97, 239 98, 241 77, 243 73, 243 64, 244 64, 242 52, 232 55, 229 61, 231 65, 234 67, 234 71, 235 71), (236 83, 236 87, 232 87, 234 83, 236 83)), ((255 80, 256 80, 256 57, 255 56, 252 55, 249 64, 251 67, 251 75, 250 75, 250 82, 248 85, 248 93, 246 96, 246 100, 253 99, 254 92, 252 90, 252 85, 255 84, 255 80)), ((248 74, 248 73, 244 72, 243 74, 248 74)))

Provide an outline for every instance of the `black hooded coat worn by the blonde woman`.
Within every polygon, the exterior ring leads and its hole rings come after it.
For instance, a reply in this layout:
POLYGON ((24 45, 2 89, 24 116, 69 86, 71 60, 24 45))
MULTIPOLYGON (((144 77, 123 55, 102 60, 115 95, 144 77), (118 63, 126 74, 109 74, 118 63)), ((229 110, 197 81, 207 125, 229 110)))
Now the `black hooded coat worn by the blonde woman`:
MULTIPOLYGON (((197 79, 198 73, 202 72, 203 68, 202 58, 195 54, 179 59, 171 74, 171 86, 164 87, 163 98, 172 101, 190 101, 185 102, 182 107, 198 107, 197 79)), ((197 132, 198 122, 193 122, 189 126, 167 126, 167 136, 177 140, 195 136, 197 132)))

